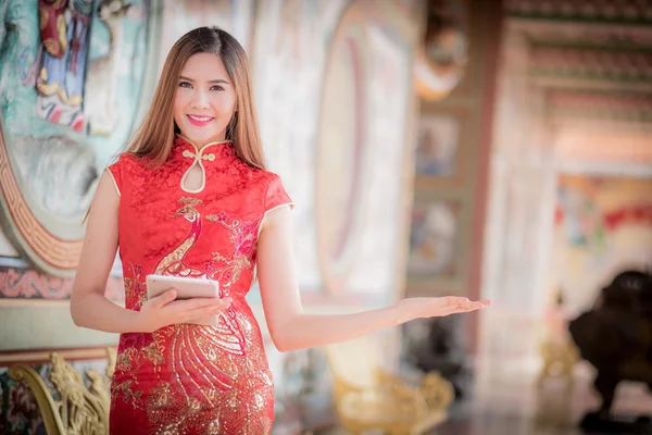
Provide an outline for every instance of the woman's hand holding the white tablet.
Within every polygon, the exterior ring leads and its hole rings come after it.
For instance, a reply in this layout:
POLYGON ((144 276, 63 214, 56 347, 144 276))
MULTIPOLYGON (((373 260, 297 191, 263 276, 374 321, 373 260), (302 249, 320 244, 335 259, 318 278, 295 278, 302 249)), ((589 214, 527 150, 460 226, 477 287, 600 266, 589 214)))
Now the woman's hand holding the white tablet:
POLYGON ((177 323, 187 323, 197 319, 215 315, 226 310, 231 298, 192 298, 175 300, 177 291, 174 288, 162 293, 155 298, 142 303, 139 330, 147 333, 177 323))

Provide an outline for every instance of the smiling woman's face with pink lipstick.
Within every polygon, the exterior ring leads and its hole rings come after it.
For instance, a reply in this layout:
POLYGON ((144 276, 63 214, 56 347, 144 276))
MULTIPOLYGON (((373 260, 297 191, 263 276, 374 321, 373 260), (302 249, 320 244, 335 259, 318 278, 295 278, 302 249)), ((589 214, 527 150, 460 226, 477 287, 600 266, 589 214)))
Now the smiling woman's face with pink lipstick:
POLYGON ((181 135, 200 147, 224 140, 235 105, 236 89, 222 59, 212 53, 192 54, 174 96, 174 121, 181 135))

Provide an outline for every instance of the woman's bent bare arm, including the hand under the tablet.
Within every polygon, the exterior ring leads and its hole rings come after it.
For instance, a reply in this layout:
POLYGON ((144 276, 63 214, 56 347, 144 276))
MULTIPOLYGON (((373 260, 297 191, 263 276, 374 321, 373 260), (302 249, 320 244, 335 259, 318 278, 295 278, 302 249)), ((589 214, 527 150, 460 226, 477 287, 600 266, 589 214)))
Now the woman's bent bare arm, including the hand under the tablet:
POLYGON ((71 314, 77 326, 108 333, 152 332, 159 327, 210 315, 229 301, 192 299, 174 301, 171 289, 143 303, 140 311, 117 306, 104 297, 106 279, 117 252, 120 197, 111 174, 100 178, 92 200, 82 258, 77 268, 71 314))

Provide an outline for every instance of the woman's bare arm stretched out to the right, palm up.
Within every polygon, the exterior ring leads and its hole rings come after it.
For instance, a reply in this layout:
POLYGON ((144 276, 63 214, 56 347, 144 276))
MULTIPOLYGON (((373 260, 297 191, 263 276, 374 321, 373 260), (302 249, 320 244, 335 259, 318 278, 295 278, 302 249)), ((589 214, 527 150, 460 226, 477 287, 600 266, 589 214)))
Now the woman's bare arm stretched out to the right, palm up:
POLYGON ((354 314, 305 314, 294 275, 289 207, 272 211, 263 225, 258 273, 269 333, 280 351, 346 341, 412 319, 469 312, 489 303, 459 297, 412 298, 354 314))

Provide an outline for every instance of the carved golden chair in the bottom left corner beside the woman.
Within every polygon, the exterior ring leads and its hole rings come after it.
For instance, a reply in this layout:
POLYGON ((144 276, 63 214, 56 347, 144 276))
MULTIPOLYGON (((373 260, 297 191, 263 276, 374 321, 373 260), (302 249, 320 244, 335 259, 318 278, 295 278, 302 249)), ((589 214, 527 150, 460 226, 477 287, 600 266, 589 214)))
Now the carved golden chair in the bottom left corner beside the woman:
POLYGON ((61 355, 51 353, 52 370, 49 380, 58 394, 57 399, 32 366, 15 364, 9 369, 9 375, 13 380, 24 380, 34 391, 48 435, 109 433, 109 380, 115 368, 115 349, 110 348, 106 353, 106 376, 95 370, 87 371, 88 387, 82 374, 67 364, 61 355))

